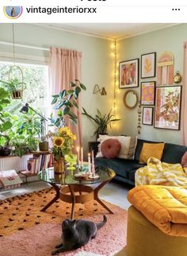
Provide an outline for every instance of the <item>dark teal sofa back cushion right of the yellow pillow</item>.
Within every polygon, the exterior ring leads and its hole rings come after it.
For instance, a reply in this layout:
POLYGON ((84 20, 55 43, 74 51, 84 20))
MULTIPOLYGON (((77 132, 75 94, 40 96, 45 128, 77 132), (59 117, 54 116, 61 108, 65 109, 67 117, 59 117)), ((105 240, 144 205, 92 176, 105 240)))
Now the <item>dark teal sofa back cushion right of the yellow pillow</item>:
POLYGON ((185 151, 187 151, 187 147, 185 145, 165 143, 161 161, 170 164, 180 164, 181 157, 184 155, 185 151))

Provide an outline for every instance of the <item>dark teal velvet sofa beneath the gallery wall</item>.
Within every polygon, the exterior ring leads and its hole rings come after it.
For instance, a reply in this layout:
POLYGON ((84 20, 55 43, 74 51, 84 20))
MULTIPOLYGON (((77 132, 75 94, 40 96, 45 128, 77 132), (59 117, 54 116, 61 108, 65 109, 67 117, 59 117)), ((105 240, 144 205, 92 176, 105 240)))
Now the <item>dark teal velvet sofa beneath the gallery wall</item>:
MULTIPOLYGON (((95 158, 95 165, 102 165, 113 169, 116 172, 115 180, 120 180, 124 183, 135 185, 135 172, 140 167, 144 166, 139 164, 139 154, 143 147, 143 142, 146 143, 158 143, 151 142, 142 139, 138 139, 136 149, 135 149, 135 159, 126 160, 120 158, 106 159, 101 157, 95 158)), ((90 149, 97 152, 98 142, 93 142, 90 149)), ((176 164, 181 163, 181 157, 187 151, 187 147, 184 145, 176 145, 171 143, 165 143, 164 150, 162 153, 161 161, 166 163, 176 164)))

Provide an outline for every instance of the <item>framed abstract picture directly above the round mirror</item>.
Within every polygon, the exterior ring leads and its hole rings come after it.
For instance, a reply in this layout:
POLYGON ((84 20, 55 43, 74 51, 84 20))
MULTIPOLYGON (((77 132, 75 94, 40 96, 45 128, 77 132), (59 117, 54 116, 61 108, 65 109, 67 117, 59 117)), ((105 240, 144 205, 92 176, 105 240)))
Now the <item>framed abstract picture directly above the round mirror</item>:
POLYGON ((139 59, 122 61, 119 64, 119 87, 139 86, 139 59))

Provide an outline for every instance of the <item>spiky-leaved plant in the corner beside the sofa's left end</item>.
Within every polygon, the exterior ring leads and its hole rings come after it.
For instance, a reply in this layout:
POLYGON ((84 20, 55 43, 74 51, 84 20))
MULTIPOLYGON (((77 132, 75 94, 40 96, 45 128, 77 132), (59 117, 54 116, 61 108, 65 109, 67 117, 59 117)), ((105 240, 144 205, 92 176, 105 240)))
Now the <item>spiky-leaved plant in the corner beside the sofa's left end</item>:
POLYGON ((120 119, 114 118, 114 115, 111 114, 112 109, 108 114, 101 114, 101 112, 97 109, 97 114, 95 117, 88 114, 84 107, 82 107, 82 109, 82 114, 86 115, 86 117, 95 122, 96 130, 94 131, 93 136, 96 135, 97 138, 99 134, 107 134, 107 128, 109 125, 111 126, 112 122, 120 121, 120 119))

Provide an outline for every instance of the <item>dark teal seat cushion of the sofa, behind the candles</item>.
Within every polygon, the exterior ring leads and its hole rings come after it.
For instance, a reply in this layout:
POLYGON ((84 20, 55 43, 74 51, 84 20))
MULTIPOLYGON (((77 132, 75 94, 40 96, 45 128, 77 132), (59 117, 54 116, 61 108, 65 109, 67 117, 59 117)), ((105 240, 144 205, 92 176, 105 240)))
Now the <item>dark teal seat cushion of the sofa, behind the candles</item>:
POLYGON ((124 160, 119 158, 106 159, 101 157, 95 158, 95 165, 103 165, 109 167, 110 169, 113 169, 116 175, 124 176, 125 178, 128 178, 128 173, 130 171, 134 169, 139 169, 140 167, 144 166, 139 164, 139 162, 135 160, 124 160))

